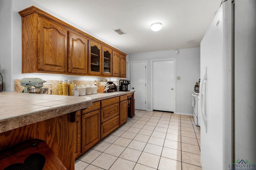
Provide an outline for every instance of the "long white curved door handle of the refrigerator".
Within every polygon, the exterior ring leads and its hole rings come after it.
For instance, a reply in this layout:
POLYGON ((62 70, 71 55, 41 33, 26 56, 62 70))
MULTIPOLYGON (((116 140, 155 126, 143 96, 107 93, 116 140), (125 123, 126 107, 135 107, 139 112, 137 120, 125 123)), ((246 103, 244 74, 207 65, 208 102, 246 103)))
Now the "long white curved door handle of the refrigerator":
POLYGON ((200 104, 202 120, 204 122, 205 132, 207 133, 207 113, 206 113, 206 82, 207 82, 207 67, 205 67, 204 78, 202 80, 203 84, 200 89, 200 104))

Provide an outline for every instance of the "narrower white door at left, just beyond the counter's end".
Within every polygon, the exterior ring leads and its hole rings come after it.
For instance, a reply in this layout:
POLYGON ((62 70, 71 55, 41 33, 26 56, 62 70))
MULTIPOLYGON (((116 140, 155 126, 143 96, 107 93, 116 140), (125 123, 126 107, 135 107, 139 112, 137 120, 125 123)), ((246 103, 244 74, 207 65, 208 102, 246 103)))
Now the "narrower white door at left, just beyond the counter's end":
POLYGON ((135 109, 146 110, 146 61, 131 62, 131 89, 135 90, 135 109))

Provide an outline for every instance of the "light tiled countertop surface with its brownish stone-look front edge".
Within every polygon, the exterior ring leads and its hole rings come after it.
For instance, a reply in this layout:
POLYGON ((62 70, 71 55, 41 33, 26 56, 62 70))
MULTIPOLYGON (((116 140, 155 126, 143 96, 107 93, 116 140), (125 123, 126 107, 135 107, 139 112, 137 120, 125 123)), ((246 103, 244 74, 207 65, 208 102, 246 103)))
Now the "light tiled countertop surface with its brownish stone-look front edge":
POLYGON ((0 133, 90 107, 92 102, 133 92, 98 93, 77 97, 1 92, 0 133))

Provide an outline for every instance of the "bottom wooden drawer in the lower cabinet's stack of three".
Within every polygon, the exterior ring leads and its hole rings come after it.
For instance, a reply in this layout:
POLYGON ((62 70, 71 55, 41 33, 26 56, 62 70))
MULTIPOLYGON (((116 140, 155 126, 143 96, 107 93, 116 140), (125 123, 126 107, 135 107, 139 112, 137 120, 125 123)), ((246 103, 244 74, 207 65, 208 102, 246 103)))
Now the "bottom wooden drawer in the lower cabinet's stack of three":
POLYGON ((101 139, 119 127, 119 115, 101 124, 101 139))

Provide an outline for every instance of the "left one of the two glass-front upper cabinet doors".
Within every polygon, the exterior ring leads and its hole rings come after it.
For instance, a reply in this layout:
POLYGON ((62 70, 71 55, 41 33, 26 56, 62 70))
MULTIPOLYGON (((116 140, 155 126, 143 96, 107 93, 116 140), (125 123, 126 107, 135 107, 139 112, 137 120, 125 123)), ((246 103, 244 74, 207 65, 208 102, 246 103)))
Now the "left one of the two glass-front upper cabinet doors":
POLYGON ((101 75, 101 45, 89 41, 88 74, 101 75))

